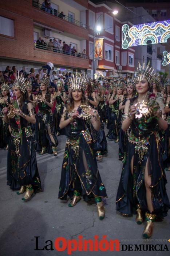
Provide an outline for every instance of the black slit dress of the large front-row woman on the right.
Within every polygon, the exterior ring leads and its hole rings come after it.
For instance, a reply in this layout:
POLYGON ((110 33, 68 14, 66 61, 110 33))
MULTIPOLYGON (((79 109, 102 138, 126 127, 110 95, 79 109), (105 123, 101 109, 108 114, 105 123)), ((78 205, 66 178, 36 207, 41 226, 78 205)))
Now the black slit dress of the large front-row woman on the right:
MULTIPOLYGON (((135 98, 130 99, 133 105, 135 98)), ((143 212, 148 211, 145 188, 145 167, 148 159, 148 174, 151 177, 151 193, 154 213, 157 217, 165 217, 170 208, 166 193, 166 175, 163 170, 161 140, 158 133, 158 120, 153 114, 156 101, 147 100, 145 114, 135 116, 131 122, 131 132, 126 151, 126 161, 123 165, 118 192, 116 210, 125 215, 136 212, 140 204, 143 212), (131 174, 131 159, 134 157, 133 175, 131 174)), ((144 111, 145 111, 144 110, 144 111)), ((138 112, 137 112, 138 113, 138 112)))

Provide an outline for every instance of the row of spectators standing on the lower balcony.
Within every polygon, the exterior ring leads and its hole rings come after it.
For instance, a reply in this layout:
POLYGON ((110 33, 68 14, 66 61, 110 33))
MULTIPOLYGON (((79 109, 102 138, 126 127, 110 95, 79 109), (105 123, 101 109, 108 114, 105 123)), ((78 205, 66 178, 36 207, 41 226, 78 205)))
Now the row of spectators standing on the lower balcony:
POLYGON ((82 53, 78 53, 75 49, 75 46, 72 47, 72 44, 68 45, 65 41, 62 42, 61 39, 59 41, 56 38, 54 38, 53 40, 50 39, 47 44, 41 37, 39 37, 39 39, 35 43, 35 46, 39 49, 50 50, 53 52, 64 53, 71 56, 87 59, 86 49, 83 49, 82 53))

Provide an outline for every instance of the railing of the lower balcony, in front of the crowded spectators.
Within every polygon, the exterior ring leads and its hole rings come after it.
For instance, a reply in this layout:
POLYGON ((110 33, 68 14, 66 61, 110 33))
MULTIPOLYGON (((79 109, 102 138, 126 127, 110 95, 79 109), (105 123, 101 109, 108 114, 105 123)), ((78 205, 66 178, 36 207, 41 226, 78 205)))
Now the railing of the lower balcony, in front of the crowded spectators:
POLYGON ((48 51, 48 52, 52 52, 52 53, 56 53, 56 54, 63 54, 63 56, 66 56, 67 55, 70 55, 70 56, 73 56, 73 57, 78 57, 78 58, 82 58, 82 59, 89 59, 87 54, 82 54, 82 53, 74 53, 74 52, 66 52, 62 49, 58 49, 58 48, 55 48, 53 49, 52 46, 48 47, 47 44, 45 45, 36 45, 36 42, 34 42, 34 49, 37 50, 37 49, 41 49, 41 50, 45 50, 45 51, 48 51))

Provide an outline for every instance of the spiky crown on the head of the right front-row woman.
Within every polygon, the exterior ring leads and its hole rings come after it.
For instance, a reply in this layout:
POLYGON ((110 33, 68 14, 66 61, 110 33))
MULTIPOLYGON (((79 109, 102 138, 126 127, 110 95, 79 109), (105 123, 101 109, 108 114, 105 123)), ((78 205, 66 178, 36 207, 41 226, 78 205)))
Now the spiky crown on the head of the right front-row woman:
POLYGON ((145 67, 145 62, 141 65, 139 63, 139 68, 137 68, 137 75, 135 77, 135 80, 142 81, 143 79, 147 79, 148 82, 151 81, 153 76, 154 68, 150 67, 150 61, 145 67))

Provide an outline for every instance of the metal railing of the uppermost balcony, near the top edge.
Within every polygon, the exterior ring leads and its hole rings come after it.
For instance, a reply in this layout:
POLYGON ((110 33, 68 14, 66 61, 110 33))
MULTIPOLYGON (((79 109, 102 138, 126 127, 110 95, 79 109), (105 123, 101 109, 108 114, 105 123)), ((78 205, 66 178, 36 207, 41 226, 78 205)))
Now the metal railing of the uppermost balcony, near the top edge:
POLYGON ((38 8, 39 10, 45 11, 45 12, 51 14, 51 15, 54 15, 54 16, 60 18, 60 19, 67 20, 68 22, 70 22, 70 23, 72 23, 76 26, 83 27, 84 29, 87 29, 86 24, 83 24, 82 22, 80 22, 76 19, 73 19, 71 16, 69 17, 67 15, 61 14, 61 13, 58 12, 58 10, 55 10, 52 7, 51 8, 46 8, 46 7, 44 7, 44 5, 37 3, 36 0, 32 0, 32 6, 38 8))

